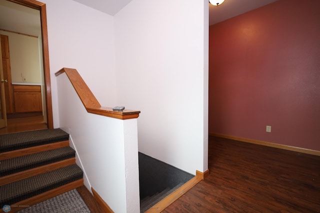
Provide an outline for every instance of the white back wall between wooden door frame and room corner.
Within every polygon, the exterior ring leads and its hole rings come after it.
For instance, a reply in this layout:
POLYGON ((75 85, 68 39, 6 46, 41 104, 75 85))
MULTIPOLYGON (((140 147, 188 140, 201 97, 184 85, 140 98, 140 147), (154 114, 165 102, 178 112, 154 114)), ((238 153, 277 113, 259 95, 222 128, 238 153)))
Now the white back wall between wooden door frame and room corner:
POLYGON ((46 4, 53 126, 59 127, 56 77, 75 68, 102 106, 115 104, 113 17, 72 0, 46 4))

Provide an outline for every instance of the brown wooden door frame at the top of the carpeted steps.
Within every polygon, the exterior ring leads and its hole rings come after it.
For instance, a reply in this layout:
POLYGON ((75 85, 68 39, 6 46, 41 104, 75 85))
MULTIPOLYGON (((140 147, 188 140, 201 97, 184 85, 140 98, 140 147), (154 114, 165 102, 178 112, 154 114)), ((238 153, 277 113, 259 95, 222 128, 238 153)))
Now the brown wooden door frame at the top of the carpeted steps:
POLYGON ((48 31, 46 25, 46 7, 45 3, 36 0, 8 0, 40 11, 41 34, 42 34, 42 55, 44 71, 45 105, 46 121, 48 128, 53 128, 52 99, 51 99, 51 81, 49 67, 49 48, 48 31))

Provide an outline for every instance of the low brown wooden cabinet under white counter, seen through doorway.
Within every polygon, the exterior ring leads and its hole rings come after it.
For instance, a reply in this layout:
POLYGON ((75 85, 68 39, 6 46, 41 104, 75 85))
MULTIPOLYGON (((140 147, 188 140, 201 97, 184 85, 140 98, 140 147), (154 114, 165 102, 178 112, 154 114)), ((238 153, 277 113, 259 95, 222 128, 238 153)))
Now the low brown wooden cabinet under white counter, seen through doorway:
POLYGON ((40 85, 13 85, 14 112, 42 111, 40 85))

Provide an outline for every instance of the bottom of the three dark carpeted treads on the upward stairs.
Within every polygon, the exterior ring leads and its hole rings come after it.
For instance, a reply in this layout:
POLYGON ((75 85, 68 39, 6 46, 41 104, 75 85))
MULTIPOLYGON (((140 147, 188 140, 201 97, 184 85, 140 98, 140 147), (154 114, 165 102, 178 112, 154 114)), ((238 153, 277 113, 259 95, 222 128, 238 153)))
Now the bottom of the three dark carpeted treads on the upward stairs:
POLYGON ((0 186, 0 206, 13 204, 82 177, 81 168, 72 164, 2 185, 0 186))

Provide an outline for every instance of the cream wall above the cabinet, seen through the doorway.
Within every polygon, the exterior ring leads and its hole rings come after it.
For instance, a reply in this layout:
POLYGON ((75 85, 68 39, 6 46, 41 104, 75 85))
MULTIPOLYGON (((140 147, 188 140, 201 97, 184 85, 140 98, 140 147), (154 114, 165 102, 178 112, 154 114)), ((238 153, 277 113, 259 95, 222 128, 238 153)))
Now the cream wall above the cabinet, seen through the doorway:
POLYGON ((41 83, 38 38, 0 30, 8 35, 11 81, 41 83))

